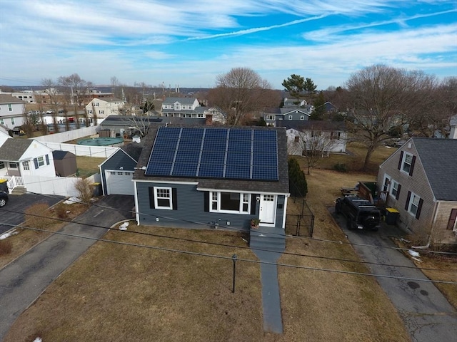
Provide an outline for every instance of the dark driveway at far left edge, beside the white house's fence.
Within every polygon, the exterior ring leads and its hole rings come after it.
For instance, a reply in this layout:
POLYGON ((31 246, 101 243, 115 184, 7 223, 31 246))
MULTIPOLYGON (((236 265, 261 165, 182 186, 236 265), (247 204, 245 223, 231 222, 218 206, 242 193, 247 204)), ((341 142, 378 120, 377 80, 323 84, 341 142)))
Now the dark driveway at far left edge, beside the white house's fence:
POLYGON ((64 197, 35 194, 8 195, 8 203, 0 209, 0 235, 17 224, 24 222, 24 211, 32 204, 45 202, 51 207, 64 197))

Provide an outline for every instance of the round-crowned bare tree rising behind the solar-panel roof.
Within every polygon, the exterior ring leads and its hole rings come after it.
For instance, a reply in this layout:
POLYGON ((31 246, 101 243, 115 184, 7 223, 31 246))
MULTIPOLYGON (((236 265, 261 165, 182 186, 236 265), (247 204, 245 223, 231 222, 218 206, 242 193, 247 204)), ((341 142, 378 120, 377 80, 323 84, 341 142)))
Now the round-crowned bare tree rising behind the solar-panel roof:
POLYGON ((227 115, 229 125, 238 125, 242 119, 264 107, 270 83, 250 68, 233 68, 217 76, 216 88, 210 90, 211 105, 217 105, 227 115))

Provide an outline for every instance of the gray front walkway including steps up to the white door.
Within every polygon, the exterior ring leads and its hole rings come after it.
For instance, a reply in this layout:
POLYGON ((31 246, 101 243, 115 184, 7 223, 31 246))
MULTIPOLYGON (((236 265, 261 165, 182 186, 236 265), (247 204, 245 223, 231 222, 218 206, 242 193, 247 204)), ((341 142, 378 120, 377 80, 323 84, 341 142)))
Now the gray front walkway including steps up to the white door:
POLYGON ((281 228, 251 229, 250 247, 261 264, 263 330, 283 333, 281 297, 278 285, 278 261, 284 252, 286 239, 281 228))

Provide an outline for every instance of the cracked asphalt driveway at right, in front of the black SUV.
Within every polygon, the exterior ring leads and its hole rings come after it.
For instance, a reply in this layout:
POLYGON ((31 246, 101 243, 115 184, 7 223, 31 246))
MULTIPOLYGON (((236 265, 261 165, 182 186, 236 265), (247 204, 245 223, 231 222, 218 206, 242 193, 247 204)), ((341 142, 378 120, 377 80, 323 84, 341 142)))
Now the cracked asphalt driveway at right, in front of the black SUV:
MULTIPOLYGON (((361 259, 377 263, 367 264, 371 273, 428 280, 403 253, 385 248, 396 247, 391 237, 401 237, 405 232, 387 224, 378 232, 348 230, 343 215, 336 215, 333 208, 330 211, 361 259)), ((457 341, 456 310, 433 283, 383 277, 376 277, 376 280, 396 307, 412 341, 457 341)))

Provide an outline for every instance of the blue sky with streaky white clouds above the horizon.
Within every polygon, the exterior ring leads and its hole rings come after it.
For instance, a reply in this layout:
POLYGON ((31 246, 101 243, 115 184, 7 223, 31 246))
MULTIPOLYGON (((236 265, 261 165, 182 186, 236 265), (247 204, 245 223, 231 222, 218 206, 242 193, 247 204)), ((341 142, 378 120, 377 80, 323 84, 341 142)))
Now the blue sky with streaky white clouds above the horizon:
POLYGON ((4 85, 78 73, 211 88, 241 66, 326 89, 378 63, 457 76, 457 1, 0 0, 4 85))

